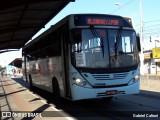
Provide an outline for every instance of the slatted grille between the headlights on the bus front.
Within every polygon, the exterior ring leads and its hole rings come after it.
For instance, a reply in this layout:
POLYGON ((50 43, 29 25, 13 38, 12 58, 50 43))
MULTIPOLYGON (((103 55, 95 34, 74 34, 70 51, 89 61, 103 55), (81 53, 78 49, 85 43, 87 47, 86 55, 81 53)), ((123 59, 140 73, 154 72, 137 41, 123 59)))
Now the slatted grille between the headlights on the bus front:
POLYGON ((115 73, 115 74, 92 74, 96 80, 116 80, 124 79, 128 75, 128 72, 125 73, 115 73))

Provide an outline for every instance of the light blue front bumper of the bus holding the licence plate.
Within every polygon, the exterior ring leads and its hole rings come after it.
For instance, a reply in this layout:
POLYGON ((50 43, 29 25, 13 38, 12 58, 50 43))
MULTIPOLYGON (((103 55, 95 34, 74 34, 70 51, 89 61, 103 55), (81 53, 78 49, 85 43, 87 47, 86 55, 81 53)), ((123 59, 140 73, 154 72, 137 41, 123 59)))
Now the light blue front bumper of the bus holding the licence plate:
POLYGON ((138 94, 140 81, 128 86, 113 88, 85 88, 73 84, 72 100, 95 99, 120 95, 138 94))

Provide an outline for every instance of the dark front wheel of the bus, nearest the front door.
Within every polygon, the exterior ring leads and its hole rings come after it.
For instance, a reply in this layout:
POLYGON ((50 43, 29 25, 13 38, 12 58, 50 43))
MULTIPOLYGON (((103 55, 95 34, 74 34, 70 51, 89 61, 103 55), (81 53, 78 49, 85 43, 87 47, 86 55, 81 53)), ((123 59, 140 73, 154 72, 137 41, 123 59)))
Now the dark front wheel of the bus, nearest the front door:
POLYGON ((53 102, 55 103, 56 107, 60 107, 62 98, 60 95, 60 89, 57 79, 52 80, 52 90, 53 90, 53 102))

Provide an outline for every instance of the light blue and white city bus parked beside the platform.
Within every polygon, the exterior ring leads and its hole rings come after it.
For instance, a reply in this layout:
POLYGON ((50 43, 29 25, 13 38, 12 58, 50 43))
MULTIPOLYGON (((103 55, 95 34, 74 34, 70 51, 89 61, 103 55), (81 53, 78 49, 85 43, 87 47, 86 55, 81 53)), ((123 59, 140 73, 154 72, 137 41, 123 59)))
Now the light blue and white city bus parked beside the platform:
POLYGON ((24 79, 55 100, 138 94, 139 46, 130 18, 71 14, 22 48, 24 79))

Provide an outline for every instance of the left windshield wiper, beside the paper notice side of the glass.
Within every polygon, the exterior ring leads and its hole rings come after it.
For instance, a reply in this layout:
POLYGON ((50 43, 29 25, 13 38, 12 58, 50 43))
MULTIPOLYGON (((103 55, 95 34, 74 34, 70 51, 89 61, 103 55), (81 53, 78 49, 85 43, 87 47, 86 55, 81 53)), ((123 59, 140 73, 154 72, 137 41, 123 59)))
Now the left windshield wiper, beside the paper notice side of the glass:
POLYGON ((100 38, 100 47, 102 49, 102 54, 103 54, 103 58, 104 58, 104 43, 103 43, 103 38, 101 36, 99 36, 98 32, 96 31, 96 29, 94 28, 93 25, 90 25, 90 30, 91 30, 91 33, 92 35, 95 37, 95 38, 100 38))

